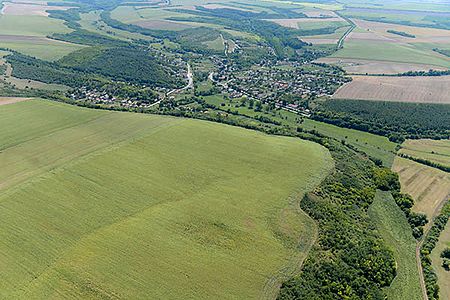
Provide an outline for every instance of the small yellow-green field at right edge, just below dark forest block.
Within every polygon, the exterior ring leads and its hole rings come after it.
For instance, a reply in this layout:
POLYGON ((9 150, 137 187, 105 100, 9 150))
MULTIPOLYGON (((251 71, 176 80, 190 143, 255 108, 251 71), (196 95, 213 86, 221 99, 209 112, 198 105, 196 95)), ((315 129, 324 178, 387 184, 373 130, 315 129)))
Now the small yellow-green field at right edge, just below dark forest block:
POLYGON ((400 153, 450 166, 449 140, 407 140, 400 153))

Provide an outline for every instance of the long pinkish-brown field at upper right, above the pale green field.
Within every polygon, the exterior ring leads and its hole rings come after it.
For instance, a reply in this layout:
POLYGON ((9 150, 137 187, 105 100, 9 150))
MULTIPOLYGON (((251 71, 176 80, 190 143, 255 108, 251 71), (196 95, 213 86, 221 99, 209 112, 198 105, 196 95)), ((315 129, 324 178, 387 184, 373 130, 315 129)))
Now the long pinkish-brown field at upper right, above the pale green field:
MULTIPOLYGON (((413 27, 405 25, 387 24, 381 22, 371 22, 354 19, 358 27, 367 31, 367 34, 378 36, 381 40, 390 40, 392 42, 400 43, 436 43, 436 44, 450 44, 450 30, 413 27), (387 30, 402 31, 413 34, 415 38, 404 37, 397 34, 388 33, 387 30)), ((354 39, 363 39, 365 33, 357 35, 353 34, 354 39)))

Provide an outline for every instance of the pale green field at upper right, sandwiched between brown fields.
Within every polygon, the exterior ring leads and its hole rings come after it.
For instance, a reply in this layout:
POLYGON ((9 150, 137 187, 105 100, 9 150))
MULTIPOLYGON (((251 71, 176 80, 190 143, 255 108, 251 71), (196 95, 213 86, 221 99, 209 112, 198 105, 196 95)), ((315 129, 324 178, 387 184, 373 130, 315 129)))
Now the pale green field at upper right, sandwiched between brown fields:
POLYGON ((347 40, 344 43, 344 48, 331 55, 331 57, 450 67, 450 62, 447 59, 430 51, 417 49, 413 45, 400 45, 381 41, 347 40))

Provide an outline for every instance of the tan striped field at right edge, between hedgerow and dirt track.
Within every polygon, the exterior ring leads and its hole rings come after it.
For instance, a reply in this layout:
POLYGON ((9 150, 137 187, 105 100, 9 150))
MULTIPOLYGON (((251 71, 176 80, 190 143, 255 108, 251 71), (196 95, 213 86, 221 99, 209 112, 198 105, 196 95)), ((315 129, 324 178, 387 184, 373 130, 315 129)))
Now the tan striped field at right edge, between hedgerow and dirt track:
POLYGON ((396 157, 392 170, 400 176, 402 192, 410 194, 413 210, 431 219, 450 195, 450 174, 414 161, 396 157))

